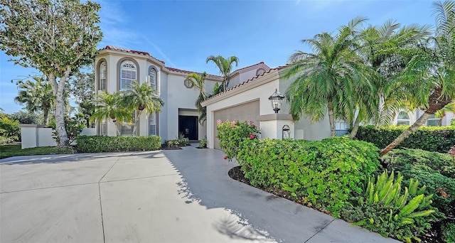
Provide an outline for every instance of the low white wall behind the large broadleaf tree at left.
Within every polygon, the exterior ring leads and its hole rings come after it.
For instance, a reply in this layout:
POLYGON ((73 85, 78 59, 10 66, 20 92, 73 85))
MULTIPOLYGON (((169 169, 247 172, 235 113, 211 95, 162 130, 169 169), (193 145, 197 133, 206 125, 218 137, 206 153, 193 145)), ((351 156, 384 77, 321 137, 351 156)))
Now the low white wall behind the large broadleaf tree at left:
MULTIPOLYGON (((22 148, 36 148, 45 146, 57 146, 57 142, 52 138, 51 128, 36 124, 20 124, 22 148)), ((94 128, 85 128, 80 135, 96 135, 94 128)))

